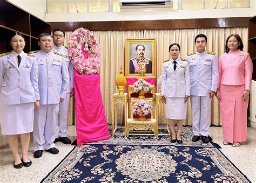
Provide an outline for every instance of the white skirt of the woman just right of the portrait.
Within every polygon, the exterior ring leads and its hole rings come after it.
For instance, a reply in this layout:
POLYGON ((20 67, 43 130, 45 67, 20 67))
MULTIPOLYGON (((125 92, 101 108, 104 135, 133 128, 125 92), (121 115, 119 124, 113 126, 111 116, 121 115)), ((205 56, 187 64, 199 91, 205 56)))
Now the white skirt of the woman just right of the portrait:
POLYGON ((187 115, 187 103, 185 97, 166 97, 166 118, 185 119, 187 115))

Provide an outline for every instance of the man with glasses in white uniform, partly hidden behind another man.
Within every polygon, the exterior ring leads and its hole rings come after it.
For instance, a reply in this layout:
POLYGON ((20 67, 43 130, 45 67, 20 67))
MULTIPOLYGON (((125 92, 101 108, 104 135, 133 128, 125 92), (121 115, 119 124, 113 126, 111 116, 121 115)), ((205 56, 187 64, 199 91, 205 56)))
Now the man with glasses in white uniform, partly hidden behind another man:
POLYGON ((56 121, 55 143, 60 141, 64 144, 71 144, 68 138, 68 118, 69 118, 69 102, 70 97, 74 95, 73 87, 73 65, 69 59, 68 48, 63 46, 65 39, 65 32, 62 29, 56 29, 52 32, 53 48, 52 51, 63 54, 64 63, 69 72, 69 82, 66 96, 62 103, 59 104, 59 114, 56 121))

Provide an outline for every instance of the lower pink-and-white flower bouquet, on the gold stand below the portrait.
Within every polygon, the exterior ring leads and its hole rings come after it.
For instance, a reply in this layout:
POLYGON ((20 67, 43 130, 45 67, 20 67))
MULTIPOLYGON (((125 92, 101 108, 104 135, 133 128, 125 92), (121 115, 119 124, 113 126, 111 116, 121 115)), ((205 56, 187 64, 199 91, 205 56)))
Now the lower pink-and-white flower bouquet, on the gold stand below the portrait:
POLYGON ((151 114, 153 111, 153 106, 151 103, 145 101, 144 99, 138 100, 136 103, 133 104, 132 107, 132 114, 139 115, 139 116, 146 116, 151 114))

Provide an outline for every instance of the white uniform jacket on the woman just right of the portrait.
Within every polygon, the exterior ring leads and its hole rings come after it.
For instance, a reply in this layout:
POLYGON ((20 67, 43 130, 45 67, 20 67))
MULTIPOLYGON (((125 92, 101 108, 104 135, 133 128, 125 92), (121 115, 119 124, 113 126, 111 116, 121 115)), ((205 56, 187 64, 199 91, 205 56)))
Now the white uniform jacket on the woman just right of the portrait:
POLYGON ((176 71, 173 59, 165 61, 162 69, 161 94, 166 97, 190 96, 190 70, 185 59, 178 57, 176 71))

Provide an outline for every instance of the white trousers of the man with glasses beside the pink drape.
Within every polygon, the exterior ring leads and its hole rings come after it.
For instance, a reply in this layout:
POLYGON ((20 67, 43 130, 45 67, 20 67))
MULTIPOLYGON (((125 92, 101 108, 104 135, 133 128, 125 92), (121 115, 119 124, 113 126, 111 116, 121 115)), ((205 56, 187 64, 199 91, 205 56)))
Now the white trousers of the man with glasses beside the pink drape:
POLYGON ((67 93, 64 100, 59 103, 59 114, 56 120, 55 138, 68 136, 70 93, 67 93))

